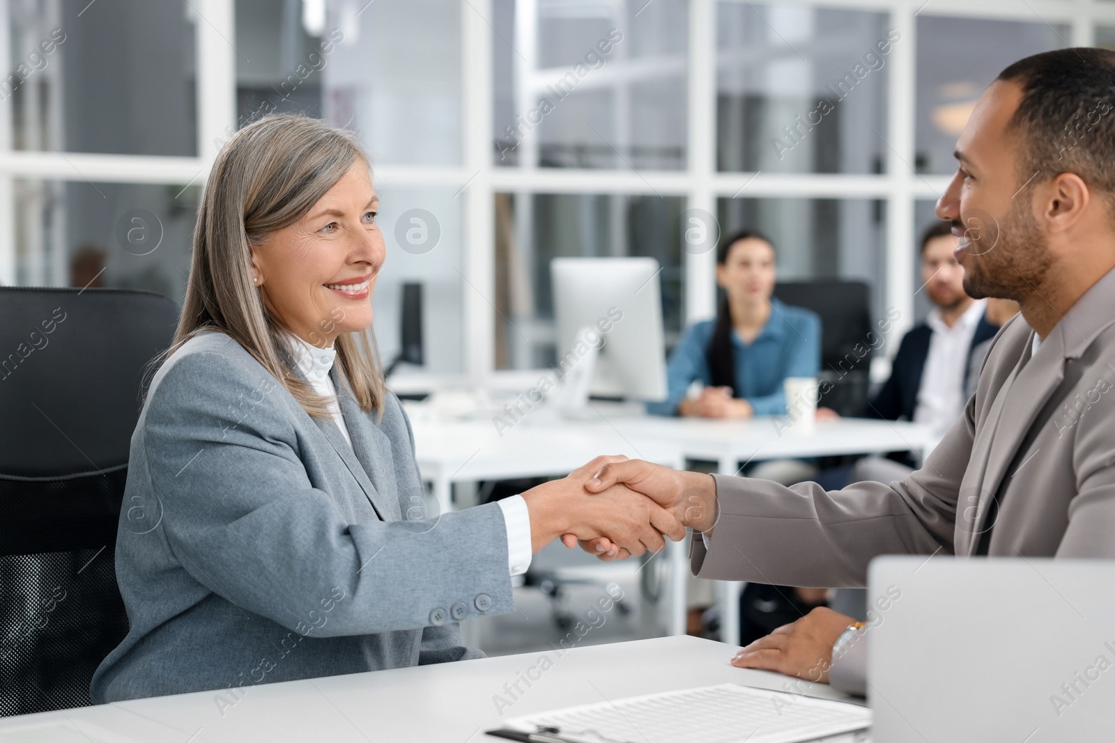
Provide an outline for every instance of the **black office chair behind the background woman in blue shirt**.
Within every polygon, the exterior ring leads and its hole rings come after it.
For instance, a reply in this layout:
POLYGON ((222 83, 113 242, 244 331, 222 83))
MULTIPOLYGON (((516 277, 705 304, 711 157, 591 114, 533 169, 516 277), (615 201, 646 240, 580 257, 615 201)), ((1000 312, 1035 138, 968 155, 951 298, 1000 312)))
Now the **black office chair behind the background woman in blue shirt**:
MULTIPOLYGON (((879 335, 871 324, 870 289, 862 282, 778 282, 774 295, 786 304, 821 315, 821 373, 832 383, 820 405, 841 416, 862 416, 871 380, 870 343, 879 335), (875 335, 869 336, 874 331, 875 335), (856 348, 859 345, 859 348, 856 348), (857 355, 859 351, 862 355, 857 355)), ((878 343, 878 341, 875 341, 878 343)))

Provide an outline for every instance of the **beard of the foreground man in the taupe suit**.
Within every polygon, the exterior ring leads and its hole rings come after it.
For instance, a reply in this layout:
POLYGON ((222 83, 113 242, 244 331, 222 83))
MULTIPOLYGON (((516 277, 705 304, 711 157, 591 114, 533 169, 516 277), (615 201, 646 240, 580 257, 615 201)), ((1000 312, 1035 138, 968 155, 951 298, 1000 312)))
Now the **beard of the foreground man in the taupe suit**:
POLYGON ((1022 302, 1043 283, 1053 256, 1025 201, 1016 202, 996 226, 997 235, 985 235, 967 251, 971 255, 964 266, 964 293, 973 300, 1022 302), (980 244, 988 239, 991 247, 980 244))

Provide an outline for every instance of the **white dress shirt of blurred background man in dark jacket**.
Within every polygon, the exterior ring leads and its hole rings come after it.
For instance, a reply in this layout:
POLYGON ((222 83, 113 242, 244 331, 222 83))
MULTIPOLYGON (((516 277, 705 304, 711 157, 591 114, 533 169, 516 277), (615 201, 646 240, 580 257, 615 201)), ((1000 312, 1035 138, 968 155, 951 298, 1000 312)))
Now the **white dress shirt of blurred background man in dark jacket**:
POLYGON ((949 429, 964 412, 964 371, 976 326, 983 316, 986 300, 971 303, 952 327, 941 320, 941 311, 933 307, 925 324, 933 331, 929 338, 929 355, 921 372, 918 404, 913 411, 915 423, 924 423, 932 432, 937 447, 949 429))

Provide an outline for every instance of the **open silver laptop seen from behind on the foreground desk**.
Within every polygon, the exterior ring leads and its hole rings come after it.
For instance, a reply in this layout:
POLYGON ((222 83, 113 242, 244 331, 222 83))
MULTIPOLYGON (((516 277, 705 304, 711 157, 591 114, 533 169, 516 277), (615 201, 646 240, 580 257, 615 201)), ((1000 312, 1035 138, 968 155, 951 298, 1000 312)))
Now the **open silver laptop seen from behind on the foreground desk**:
POLYGON ((882 557, 869 583, 875 741, 1115 741, 1115 561, 882 557))

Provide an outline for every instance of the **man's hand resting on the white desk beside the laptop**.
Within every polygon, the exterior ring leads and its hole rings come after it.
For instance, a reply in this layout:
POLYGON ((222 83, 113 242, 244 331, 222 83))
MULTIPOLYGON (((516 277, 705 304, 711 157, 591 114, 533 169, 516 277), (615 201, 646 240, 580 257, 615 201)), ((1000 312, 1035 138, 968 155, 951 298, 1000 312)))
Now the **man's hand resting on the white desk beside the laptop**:
POLYGON ((797 622, 778 627, 736 653, 731 665, 777 671, 827 684, 833 645, 854 622, 850 616, 818 606, 797 622))

